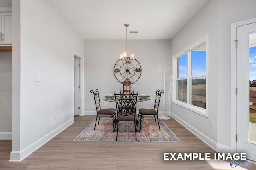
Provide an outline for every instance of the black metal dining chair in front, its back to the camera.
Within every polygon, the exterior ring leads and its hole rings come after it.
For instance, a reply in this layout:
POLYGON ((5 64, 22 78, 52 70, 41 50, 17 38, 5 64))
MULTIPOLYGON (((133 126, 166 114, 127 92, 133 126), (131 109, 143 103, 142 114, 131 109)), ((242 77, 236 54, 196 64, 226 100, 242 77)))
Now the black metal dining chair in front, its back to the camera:
POLYGON ((119 122, 120 121, 133 121, 134 122, 134 130, 135 130, 135 140, 137 141, 137 114, 136 114, 136 104, 137 104, 137 96, 138 92, 136 94, 116 94, 115 95, 115 101, 116 101, 116 141, 118 137, 118 128, 119 128, 119 122))

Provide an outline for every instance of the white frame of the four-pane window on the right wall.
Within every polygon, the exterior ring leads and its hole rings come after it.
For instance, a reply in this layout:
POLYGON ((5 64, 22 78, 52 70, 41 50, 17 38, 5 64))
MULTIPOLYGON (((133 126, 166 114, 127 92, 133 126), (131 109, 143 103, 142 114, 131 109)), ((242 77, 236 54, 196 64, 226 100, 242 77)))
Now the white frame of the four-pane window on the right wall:
POLYGON ((178 106, 184 107, 190 111, 193 111, 195 113, 198 113, 199 115, 202 115, 204 117, 208 117, 208 89, 209 89, 209 79, 208 79, 208 55, 209 50, 208 50, 208 34, 205 35, 204 37, 200 38, 199 40, 197 40, 196 42, 192 43, 191 45, 189 45, 188 47, 182 49, 180 52, 176 53, 175 55, 172 56, 172 77, 173 77, 173 83, 172 83, 172 103, 177 104, 178 106), (191 51, 201 47, 202 45, 206 45, 206 75, 202 75, 202 76, 191 76, 191 51), (188 56, 187 58, 187 77, 179 77, 177 75, 177 69, 178 69, 178 63, 177 60, 179 57, 182 57, 183 55, 188 56), (206 78, 206 108, 203 109, 201 107, 198 106, 194 106, 192 104, 190 104, 191 101, 191 81, 190 79, 192 78, 206 78), (176 99, 176 80, 187 80, 187 102, 182 102, 180 100, 176 99))

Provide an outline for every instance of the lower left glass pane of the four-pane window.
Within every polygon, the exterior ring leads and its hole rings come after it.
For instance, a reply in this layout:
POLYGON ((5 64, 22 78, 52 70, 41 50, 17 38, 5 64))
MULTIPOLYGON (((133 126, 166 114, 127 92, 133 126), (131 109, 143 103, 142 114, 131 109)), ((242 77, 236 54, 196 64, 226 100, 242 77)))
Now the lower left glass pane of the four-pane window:
POLYGON ((187 80, 176 80, 176 100, 187 102, 187 80))

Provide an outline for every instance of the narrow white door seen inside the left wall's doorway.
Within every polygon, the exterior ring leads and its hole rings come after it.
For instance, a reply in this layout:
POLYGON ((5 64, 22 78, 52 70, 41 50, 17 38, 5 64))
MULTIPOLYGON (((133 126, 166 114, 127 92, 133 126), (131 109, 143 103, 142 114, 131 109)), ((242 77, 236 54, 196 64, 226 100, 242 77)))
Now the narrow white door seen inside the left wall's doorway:
POLYGON ((80 103, 79 64, 80 63, 79 62, 80 62, 80 59, 77 57, 74 57, 74 116, 79 116, 79 111, 80 111, 80 106, 79 106, 79 103, 80 103))

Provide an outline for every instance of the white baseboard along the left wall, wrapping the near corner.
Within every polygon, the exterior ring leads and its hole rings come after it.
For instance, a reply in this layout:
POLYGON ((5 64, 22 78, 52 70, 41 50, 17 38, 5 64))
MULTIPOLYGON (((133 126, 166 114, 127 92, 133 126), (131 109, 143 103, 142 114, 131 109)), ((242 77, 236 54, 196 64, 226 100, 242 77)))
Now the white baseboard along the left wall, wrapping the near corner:
POLYGON ((60 132, 62 132, 64 129, 66 129, 67 127, 69 127, 73 123, 74 123, 74 118, 66 121, 65 123, 63 123, 62 125, 57 127, 56 129, 54 129, 53 131, 48 133, 47 135, 41 137, 40 139, 38 139, 37 141, 35 141, 31 145, 26 147, 25 149, 22 149, 21 151, 12 150, 9 161, 10 162, 20 162, 20 161, 22 161, 24 158, 26 158, 27 156, 32 154, 35 150, 37 150, 42 145, 44 145, 45 143, 50 141, 53 137, 58 135, 60 132))

